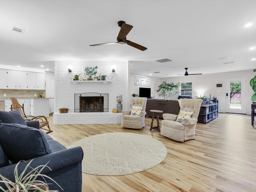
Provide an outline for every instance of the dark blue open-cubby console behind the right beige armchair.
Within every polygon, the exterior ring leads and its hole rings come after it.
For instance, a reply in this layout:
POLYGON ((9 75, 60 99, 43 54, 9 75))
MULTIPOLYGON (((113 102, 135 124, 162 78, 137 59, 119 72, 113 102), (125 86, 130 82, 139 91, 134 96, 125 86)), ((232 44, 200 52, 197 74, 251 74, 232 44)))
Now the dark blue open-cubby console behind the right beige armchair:
POLYGON ((199 123, 208 123, 218 117, 218 103, 204 104, 198 114, 199 123))

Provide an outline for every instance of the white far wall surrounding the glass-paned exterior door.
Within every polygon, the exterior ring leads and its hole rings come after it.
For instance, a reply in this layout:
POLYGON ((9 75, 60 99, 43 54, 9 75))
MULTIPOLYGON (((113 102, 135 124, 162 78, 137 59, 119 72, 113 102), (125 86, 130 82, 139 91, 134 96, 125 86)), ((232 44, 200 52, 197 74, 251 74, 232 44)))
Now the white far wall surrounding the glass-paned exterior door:
POLYGON ((200 96, 200 94, 206 96, 217 96, 219 100, 219 112, 226 112, 226 84, 225 78, 233 77, 246 77, 247 78, 247 114, 251 114, 252 95, 254 91, 250 86, 250 80, 254 78, 256 72, 253 70, 244 70, 236 72, 225 72, 215 74, 203 74, 203 75, 191 75, 184 77, 172 77, 162 78, 161 80, 167 80, 167 82, 192 82, 192 96, 200 96), (222 84, 222 88, 217 88, 216 84, 222 84))

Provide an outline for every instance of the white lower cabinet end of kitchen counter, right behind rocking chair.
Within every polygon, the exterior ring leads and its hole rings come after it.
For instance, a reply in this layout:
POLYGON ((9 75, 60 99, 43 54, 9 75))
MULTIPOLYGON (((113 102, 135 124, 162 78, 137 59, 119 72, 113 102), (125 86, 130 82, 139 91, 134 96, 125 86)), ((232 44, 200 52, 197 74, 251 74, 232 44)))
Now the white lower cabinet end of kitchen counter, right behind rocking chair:
POLYGON ((30 100, 30 114, 32 116, 49 116, 49 99, 40 98, 40 99, 31 99, 30 100))

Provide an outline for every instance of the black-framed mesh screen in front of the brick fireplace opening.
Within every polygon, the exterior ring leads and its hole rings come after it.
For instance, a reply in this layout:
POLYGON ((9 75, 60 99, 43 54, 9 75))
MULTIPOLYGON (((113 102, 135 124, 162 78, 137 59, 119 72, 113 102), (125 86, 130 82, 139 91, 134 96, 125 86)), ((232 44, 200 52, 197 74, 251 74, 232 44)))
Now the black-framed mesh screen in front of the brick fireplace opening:
POLYGON ((75 112, 108 112, 108 94, 75 94, 75 112))

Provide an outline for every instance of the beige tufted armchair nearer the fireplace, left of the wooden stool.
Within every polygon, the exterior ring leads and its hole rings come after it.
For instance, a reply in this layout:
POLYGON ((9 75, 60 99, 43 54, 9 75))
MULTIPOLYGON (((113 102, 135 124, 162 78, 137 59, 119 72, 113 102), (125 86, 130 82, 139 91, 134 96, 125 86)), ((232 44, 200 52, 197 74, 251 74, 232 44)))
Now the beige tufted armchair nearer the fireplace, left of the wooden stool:
POLYGON ((145 126, 146 115, 146 97, 133 97, 131 100, 131 110, 122 110, 122 128, 141 129, 145 126), (142 110, 138 116, 132 115, 132 106, 142 106, 142 110))

